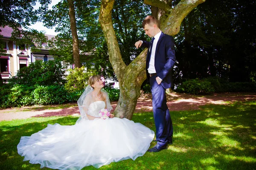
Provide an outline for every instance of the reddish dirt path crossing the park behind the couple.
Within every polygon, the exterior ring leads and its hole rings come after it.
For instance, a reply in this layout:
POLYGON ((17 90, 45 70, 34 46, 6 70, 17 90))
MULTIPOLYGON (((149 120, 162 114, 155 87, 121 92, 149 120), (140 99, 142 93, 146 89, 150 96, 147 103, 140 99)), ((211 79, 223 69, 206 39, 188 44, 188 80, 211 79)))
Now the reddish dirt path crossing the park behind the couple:
MULTIPOLYGON (((167 95, 167 105, 170 111, 197 110, 199 106, 206 104, 221 104, 237 101, 256 101, 256 93, 227 93, 206 96, 172 93, 167 95)), ((113 108, 117 102, 112 102, 113 108)), ((141 96, 135 108, 135 112, 152 111, 151 95, 141 96)), ((30 117, 49 116, 79 116, 79 108, 76 103, 66 105, 30 106, 0 110, 0 121, 13 119, 27 119, 30 117)))

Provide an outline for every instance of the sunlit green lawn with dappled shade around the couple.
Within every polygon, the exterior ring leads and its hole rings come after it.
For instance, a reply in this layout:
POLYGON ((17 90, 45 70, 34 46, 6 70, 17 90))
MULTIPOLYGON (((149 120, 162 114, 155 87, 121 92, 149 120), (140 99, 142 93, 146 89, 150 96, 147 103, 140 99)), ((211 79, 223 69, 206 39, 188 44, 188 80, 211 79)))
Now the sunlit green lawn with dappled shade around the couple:
MULTIPOLYGON (((256 169, 256 102, 205 105, 200 110, 171 112, 173 144, 159 153, 145 153, 135 161, 111 163, 102 170, 253 170, 256 169)), ((38 170, 17 154, 21 136, 47 124, 74 125, 77 117, 29 118, 0 122, 0 170, 38 170)), ((151 112, 135 113, 134 122, 155 131, 151 112)), ((151 147, 156 142, 151 143, 151 147)), ((42 168, 47 170, 49 168, 42 168)), ((83 170, 95 169, 84 167, 83 170)))

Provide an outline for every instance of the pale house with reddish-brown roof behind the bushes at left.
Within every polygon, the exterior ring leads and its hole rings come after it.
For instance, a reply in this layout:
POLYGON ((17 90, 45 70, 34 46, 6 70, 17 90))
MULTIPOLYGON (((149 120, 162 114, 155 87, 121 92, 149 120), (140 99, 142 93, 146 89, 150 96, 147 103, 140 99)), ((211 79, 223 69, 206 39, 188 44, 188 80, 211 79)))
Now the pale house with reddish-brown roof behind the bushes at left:
MULTIPOLYGON (((25 44, 17 45, 15 41, 10 40, 13 29, 9 26, 0 28, 0 34, 3 36, 3 47, 5 54, 0 55, 0 73, 3 82, 8 82, 13 76, 17 74, 20 68, 28 66, 30 63, 37 60, 48 61, 54 60, 52 55, 49 55, 47 49, 48 43, 44 42, 40 52, 32 52, 30 47, 27 48, 25 44)), ((47 35, 48 39, 55 37, 54 35, 47 35)), ((62 62, 63 66, 68 65, 66 62, 62 62)))

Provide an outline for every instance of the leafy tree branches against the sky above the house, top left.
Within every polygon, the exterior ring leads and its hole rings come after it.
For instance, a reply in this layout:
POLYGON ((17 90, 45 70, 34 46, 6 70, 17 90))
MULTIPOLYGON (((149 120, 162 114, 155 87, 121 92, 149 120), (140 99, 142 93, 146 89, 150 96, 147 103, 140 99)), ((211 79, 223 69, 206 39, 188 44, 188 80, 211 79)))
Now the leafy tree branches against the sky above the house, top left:
POLYGON ((13 28, 12 40, 17 44, 41 45, 46 42, 44 32, 29 28, 40 21, 40 16, 47 10, 50 0, 1 0, 0 27, 13 28), (36 2, 41 6, 34 9, 36 2), (23 29, 24 28, 24 29, 23 29))

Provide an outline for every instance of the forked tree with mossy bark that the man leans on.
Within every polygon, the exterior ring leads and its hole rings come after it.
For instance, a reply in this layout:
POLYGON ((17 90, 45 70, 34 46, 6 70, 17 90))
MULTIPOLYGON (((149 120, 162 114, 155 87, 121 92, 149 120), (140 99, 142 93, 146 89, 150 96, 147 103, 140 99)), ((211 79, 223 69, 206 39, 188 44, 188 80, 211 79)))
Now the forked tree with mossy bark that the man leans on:
MULTIPOLYGON (((203 2, 204 0, 181 0, 175 8, 172 8, 163 1, 144 1, 144 3, 160 8, 166 13, 166 17, 160 17, 161 30, 169 35, 177 34, 186 15, 203 2)), ((144 49, 133 62, 125 65, 113 29, 111 17, 113 5, 114 0, 102 0, 99 22, 108 45, 110 62, 120 85, 120 97, 114 114, 120 118, 131 119, 137 99, 140 97, 140 86, 146 79, 145 56, 147 51, 144 49)))

